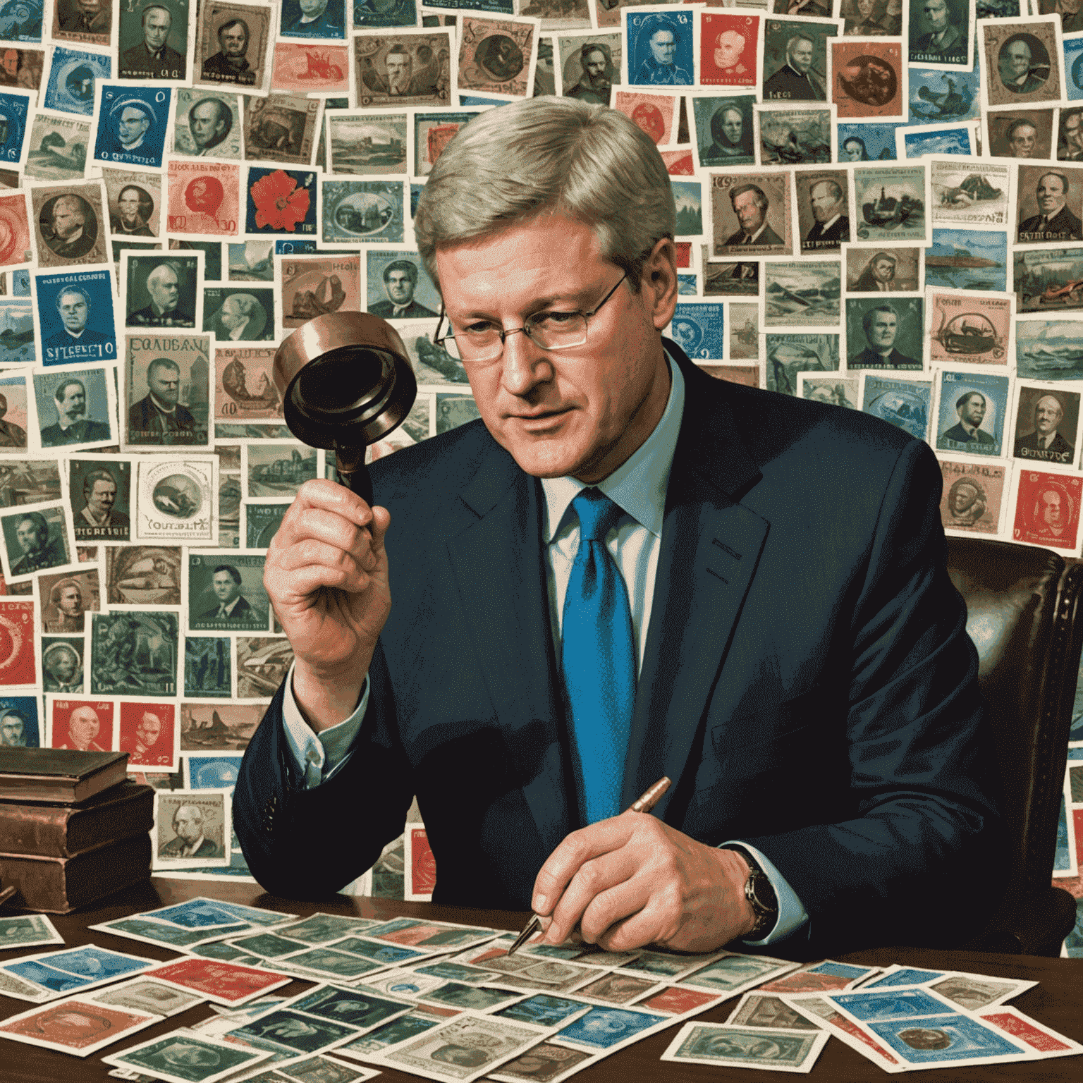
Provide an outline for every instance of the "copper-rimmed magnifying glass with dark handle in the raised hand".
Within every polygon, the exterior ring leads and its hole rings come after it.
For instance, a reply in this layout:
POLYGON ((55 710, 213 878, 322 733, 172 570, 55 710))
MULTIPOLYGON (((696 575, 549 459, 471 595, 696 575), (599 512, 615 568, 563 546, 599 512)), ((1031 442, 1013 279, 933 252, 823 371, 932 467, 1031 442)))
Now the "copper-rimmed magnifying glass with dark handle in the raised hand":
POLYGON ((417 397, 399 332, 369 312, 316 316, 278 347, 273 375, 289 431, 335 452, 339 482, 371 506, 365 448, 402 425, 417 397))

